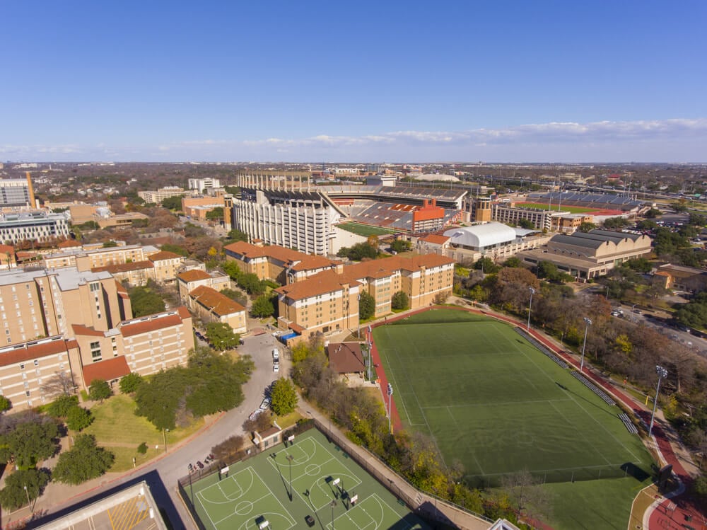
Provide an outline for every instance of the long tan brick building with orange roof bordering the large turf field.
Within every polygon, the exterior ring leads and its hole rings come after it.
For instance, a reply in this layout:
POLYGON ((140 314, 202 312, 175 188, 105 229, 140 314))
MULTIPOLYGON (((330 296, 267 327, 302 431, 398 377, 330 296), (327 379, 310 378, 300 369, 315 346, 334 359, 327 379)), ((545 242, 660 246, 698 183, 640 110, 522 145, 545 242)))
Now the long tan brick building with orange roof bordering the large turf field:
POLYGON ((359 294, 375 300, 375 316, 391 311, 392 296, 407 294, 411 309, 452 292, 454 260, 440 255, 395 256, 327 270, 275 289, 281 329, 303 336, 358 326, 359 294))

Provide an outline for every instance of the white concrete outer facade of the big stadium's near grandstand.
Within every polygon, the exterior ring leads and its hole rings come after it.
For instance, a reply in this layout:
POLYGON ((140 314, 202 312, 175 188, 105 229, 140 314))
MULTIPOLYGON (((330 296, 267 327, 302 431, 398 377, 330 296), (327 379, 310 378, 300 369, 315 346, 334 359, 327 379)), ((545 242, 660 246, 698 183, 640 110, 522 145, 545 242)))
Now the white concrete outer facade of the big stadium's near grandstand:
POLYGON ((327 255, 341 213, 317 192, 241 188, 233 199, 233 228, 269 245, 327 255))

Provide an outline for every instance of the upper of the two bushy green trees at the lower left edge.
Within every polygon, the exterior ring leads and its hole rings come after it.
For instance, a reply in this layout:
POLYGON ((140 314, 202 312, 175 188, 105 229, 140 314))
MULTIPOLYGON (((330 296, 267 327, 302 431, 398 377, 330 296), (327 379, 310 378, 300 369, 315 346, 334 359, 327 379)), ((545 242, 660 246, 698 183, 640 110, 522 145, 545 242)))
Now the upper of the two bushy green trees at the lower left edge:
POLYGON ((35 467, 57 451, 59 427, 48 418, 33 415, 22 417, 13 430, 0 436, 0 454, 4 460, 15 459, 21 469, 35 467))

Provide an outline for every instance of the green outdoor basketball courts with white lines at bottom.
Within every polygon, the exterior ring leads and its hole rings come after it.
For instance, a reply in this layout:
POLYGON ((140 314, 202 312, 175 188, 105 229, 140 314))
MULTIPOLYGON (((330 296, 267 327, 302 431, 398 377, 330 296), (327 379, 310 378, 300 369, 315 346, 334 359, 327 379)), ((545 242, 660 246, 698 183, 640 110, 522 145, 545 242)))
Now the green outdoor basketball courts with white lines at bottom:
POLYGON ((308 529, 308 515, 320 530, 428 529, 316 429, 288 447, 279 444, 229 466, 221 477, 187 485, 185 492, 209 530, 259 530, 264 521, 273 530, 308 529))

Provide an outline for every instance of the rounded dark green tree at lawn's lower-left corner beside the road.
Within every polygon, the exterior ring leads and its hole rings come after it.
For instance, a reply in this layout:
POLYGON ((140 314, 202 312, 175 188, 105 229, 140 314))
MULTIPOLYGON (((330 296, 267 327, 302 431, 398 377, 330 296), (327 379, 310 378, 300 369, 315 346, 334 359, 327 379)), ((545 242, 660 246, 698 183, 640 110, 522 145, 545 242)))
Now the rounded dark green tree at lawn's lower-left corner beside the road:
POLYGON ((115 456, 98 447, 91 434, 78 434, 74 447, 59 455, 54 468, 54 480, 64 484, 81 484, 103 475, 112 466, 115 456))

